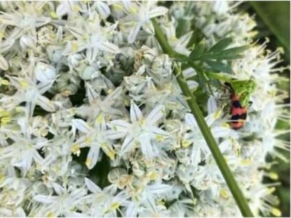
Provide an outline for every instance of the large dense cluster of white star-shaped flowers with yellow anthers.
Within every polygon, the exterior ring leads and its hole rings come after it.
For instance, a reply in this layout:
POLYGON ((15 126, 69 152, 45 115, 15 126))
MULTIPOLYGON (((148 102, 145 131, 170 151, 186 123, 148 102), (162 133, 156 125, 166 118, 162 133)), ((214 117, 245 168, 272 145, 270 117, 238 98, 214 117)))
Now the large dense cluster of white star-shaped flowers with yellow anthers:
MULTIPOLYGON (((192 32, 176 37, 181 19, 194 19, 208 46, 226 36, 247 44, 255 23, 234 6, 1 1, 0 216, 240 216, 150 21, 186 55, 192 32)), ((258 85, 243 129, 229 126, 221 90, 203 106, 252 210, 280 215, 260 169, 288 146, 274 129, 285 93, 273 68, 279 52, 264 47, 232 63, 234 77, 258 85)))

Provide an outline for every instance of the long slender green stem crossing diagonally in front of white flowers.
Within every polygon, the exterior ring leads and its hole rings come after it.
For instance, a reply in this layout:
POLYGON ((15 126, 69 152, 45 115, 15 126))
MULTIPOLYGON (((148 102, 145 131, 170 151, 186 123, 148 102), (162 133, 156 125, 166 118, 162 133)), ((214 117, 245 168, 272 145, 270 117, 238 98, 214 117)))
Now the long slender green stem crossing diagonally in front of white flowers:
MULTIPOLYGON (((155 19, 152 19, 152 24, 155 28, 155 37, 157 38, 157 41, 159 42, 164 53, 167 53, 170 57, 177 57, 177 53, 173 51, 173 49, 168 44, 168 40, 166 39, 164 33, 162 32, 159 24, 157 24, 155 19)), ((224 160, 224 157, 222 156, 222 153, 220 152, 220 149, 218 148, 218 145, 216 144, 215 139, 213 138, 213 135, 211 134, 211 131, 204 120, 203 113, 197 104, 195 96, 193 96, 193 93, 191 93, 188 84, 181 72, 181 69, 176 66, 174 73, 176 75, 177 82, 179 83, 179 87, 181 88, 184 96, 186 96, 188 106, 190 107, 191 112, 197 121, 200 131, 202 132, 202 135, 204 136, 206 143, 211 150, 220 172, 222 173, 222 176, 224 177, 229 190, 233 195, 233 198, 236 200, 238 208, 240 208, 240 212, 244 217, 254 217, 252 211, 249 209, 249 205, 247 204, 247 200, 245 199, 243 192, 238 187, 238 183, 236 183, 236 180, 234 179, 229 166, 224 160)))

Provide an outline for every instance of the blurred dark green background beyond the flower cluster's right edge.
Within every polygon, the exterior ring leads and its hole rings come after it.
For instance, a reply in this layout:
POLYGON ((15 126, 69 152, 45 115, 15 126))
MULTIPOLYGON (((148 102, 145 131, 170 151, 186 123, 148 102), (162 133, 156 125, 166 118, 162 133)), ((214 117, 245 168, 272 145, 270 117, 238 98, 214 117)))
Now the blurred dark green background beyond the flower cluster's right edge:
MULTIPOLYGON (((278 46, 284 48, 283 62, 279 66, 290 66, 290 1, 248 1, 240 5, 240 10, 255 15, 259 42, 264 42, 265 37, 268 37, 270 43, 267 47, 272 51, 278 46)), ((283 75, 289 80, 279 84, 279 88, 289 91, 290 96, 290 70, 283 71, 283 75)), ((285 103, 290 103, 290 98, 285 99, 285 103)), ((290 130, 290 120, 279 121, 277 128, 290 130)), ((290 133, 282 135, 281 138, 290 142, 290 133)), ((290 217, 290 152, 281 152, 289 161, 276 159, 278 164, 271 170, 279 175, 278 181, 281 183, 276 188, 276 195, 280 200, 279 208, 282 216, 290 217)), ((267 161, 274 161, 274 158, 267 157, 267 161)), ((267 178, 264 182, 274 183, 267 178)))

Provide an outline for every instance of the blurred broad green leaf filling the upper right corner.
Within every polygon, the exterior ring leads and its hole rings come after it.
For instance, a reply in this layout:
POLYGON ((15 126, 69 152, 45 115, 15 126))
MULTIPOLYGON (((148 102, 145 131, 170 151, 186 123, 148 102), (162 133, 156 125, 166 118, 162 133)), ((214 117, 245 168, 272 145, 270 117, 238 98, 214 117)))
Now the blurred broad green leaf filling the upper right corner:
POLYGON ((290 1, 250 1, 290 57, 290 1))

